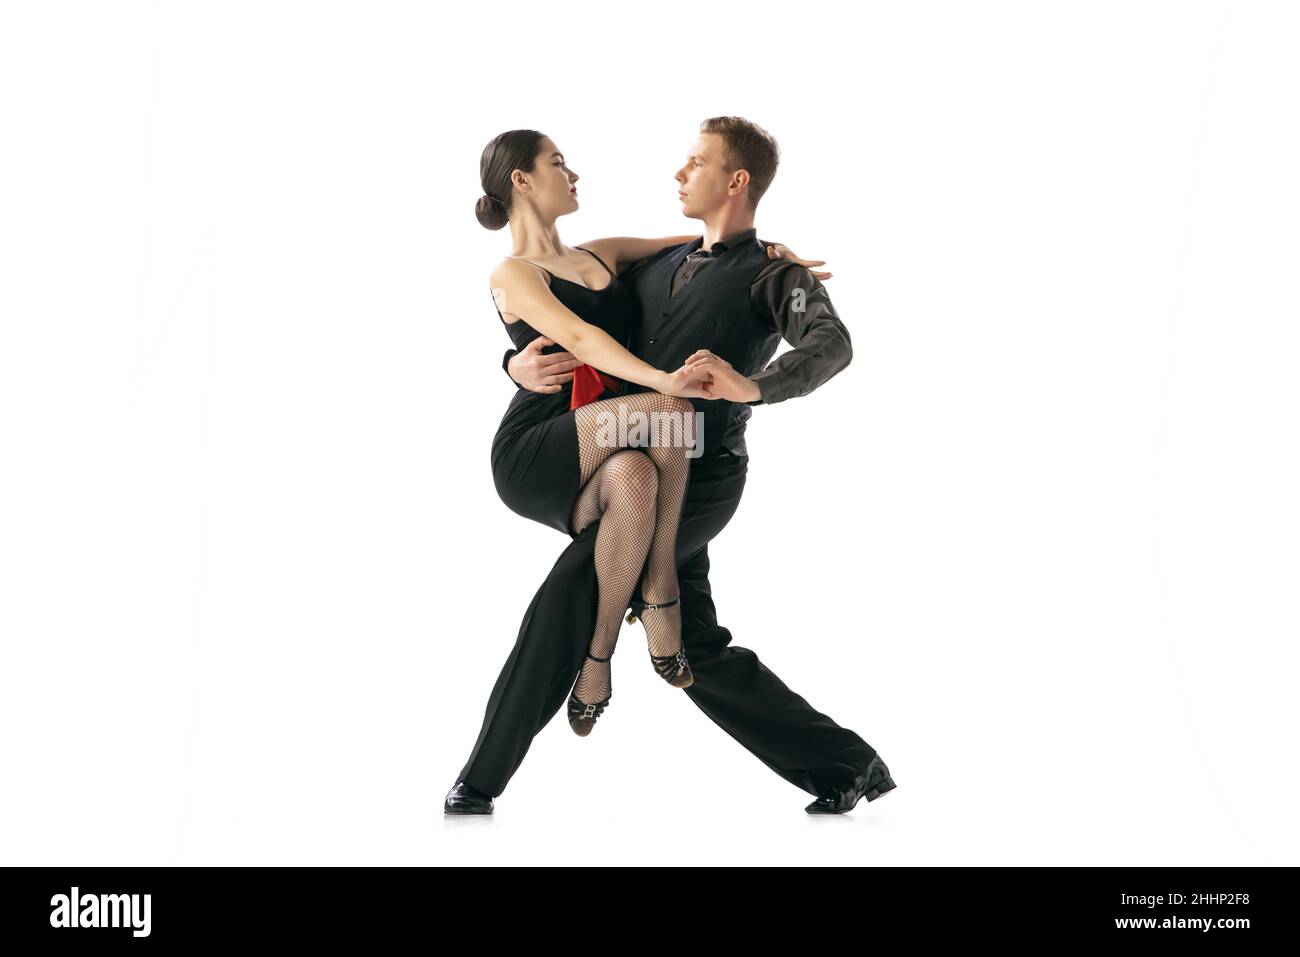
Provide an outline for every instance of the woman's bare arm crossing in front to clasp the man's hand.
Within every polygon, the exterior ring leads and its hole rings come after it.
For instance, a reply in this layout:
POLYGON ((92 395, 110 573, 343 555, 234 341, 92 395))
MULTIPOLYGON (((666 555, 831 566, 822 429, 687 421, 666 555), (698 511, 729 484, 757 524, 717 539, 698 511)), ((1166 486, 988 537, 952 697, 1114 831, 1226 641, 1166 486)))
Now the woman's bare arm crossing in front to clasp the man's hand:
POLYGON ((588 365, 644 385, 664 395, 705 398, 703 373, 685 368, 668 373, 637 359, 597 325, 582 321, 566 308, 542 281, 536 267, 519 260, 506 260, 491 273, 493 296, 502 312, 511 312, 533 329, 554 339, 588 365))

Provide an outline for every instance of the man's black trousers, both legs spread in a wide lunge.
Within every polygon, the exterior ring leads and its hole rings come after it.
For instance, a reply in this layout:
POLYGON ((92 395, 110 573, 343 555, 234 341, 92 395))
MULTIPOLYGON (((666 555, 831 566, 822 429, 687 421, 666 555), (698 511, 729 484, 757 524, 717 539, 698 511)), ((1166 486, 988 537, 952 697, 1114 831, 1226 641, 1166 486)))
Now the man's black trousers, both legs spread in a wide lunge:
MULTIPOLYGON (((736 514, 748 471, 749 459, 732 455, 690 463, 677 529, 682 646, 696 675, 685 694, 781 778, 822 794, 861 774, 875 749, 790 690, 748 648, 733 645, 708 586, 708 542, 736 514)), ((478 740, 458 775, 486 794, 506 789, 577 680, 595 629, 598 528, 592 523, 569 542, 533 596, 488 700, 478 740)))

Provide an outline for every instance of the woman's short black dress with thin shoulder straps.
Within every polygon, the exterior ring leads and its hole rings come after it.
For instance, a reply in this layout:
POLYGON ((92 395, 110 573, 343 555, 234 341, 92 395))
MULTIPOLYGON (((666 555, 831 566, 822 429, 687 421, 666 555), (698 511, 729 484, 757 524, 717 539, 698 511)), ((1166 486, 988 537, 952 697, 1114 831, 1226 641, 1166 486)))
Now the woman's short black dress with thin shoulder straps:
MULTIPOLYGON (((577 248, 582 248, 581 246, 577 248)), ((604 261, 590 250, 582 250, 604 261)), ((546 267, 538 267, 546 270, 546 267)), ((640 317, 630 290, 619 281, 610 267, 610 282, 603 289, 588 289, 546 270, 555 298, 590 325, 599 326, 624 348, 633 342, 633 332, 640 317)), ((500 316, 500 309, 497 309, 500 316)), ((506 322, 506 332, 523 348, 541 335, 524 320, 506 322)), ((558 342, 542 348, 543 354, 566 351, 558 342)), ((575 369, 581 372, 581 369, 575 369)), ((624 386, 624 384, 619 384, 624 386)), ((606 389, 598 398, 621 394, 606 389)), ((491 473, 497 494, 511 511, 525 519, 575 537, 569 525, 573 503, 581 492, 581 472, 577 450, 577 425, 569 402, 573 381, 564 382, 558 393, 533 393, 520 387, 506 410, 491 443, 491 473)))

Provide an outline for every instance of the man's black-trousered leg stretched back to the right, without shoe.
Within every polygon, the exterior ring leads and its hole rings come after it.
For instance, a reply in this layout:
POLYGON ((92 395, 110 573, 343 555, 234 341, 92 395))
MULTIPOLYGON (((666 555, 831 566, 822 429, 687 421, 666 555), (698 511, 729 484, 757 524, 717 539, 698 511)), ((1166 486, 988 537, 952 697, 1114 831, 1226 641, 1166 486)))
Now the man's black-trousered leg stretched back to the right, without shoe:
MULTIPOLYGON (((682 645, 696 681, 690 700, 718 727, 781 778, 823 794, 861 774, 875 749, 790 690, 748 648, 718 624, 708 585, 708 542, 731 520, 745 488, 748 462, 692 465, 677 531, 682 645)), ((797 599, 796 599, 797 601, 797 599)))

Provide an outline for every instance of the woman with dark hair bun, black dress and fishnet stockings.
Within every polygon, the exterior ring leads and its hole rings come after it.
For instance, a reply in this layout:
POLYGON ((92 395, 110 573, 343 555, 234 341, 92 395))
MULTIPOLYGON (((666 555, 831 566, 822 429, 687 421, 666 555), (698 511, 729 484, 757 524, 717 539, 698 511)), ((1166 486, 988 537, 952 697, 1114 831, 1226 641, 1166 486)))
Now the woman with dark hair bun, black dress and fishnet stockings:
POLYGON ((502 501, 528 519, 571 537, 601 520, 595 629, 568 700, 569 726, 585 736, 610 703, 610 657, 638 579, 656 671, 675 688, 694 680, 682 653, 675 546, 690 464, 682 437, 694 434, 688 398, 708 398, 706 373, 655 369, 628 351, 638 308, 616 270, 696 234, 564 246, 555 221, 578 208, 578 177, 536 130, 493 139, 480 177, 478 221, 511 230, 511 255, 491 273, 510 338, 523 348, 545 335, 554 345, 543 352, 564 350, 584 363, 555 391, 514 395, 491 467, 502 501), (651 391, 625 394, 627 382, 651 391), (627 445, 625 429, 602 428, 634 412, 650 425, 644 449, 627 445))

